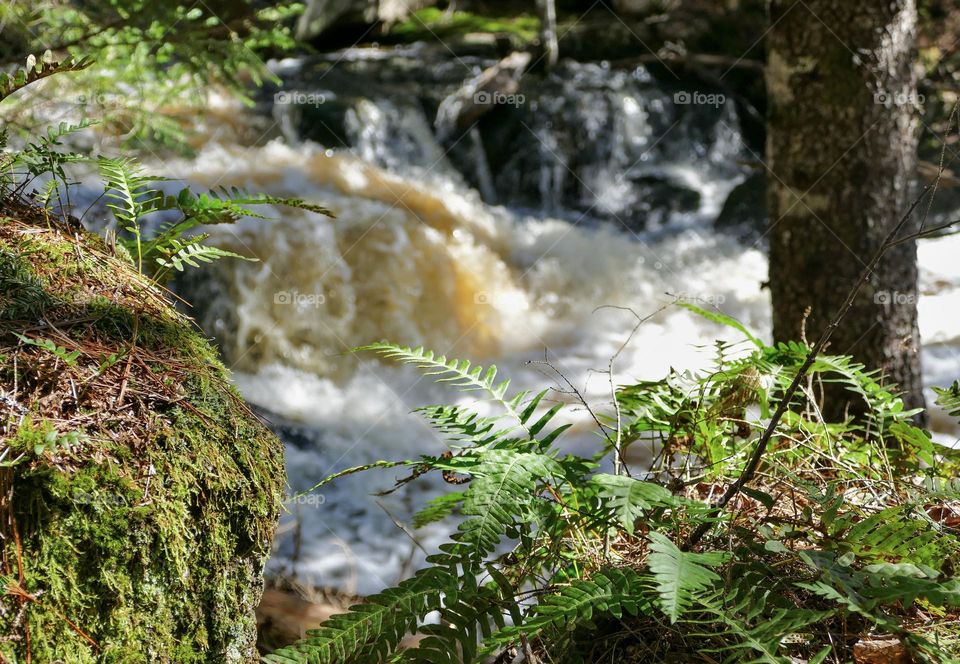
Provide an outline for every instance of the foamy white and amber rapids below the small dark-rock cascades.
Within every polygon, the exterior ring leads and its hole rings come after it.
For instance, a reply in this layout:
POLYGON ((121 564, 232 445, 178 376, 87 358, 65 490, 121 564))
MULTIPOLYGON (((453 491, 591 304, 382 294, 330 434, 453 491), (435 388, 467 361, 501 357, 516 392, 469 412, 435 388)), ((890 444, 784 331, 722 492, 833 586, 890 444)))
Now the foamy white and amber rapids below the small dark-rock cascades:
MULTIPOLYGON (((177 167, 199 184, 237 185, 323 203, 338 218, 277 210, 277 221, 216 230, 216 243, 259 263, 222 262, 194 293, 199 320, 222 344, 240 390, 269 411, 287 442, 293 491, 377 459, 435 454, 445 444, 410 411, 471 402, 410 368, 355 356, 353 346, 389 339, 448 356, 495 363, 517 388, 555 385, 531 360, 548 358, 599 409, 609 403, 609 358, 634 316, 674 296, 697 299, 769 336, 762 250, 689 227, 634 234, 615 225, 524 217, 484 205, 454 178, 404 177, 318 146, 208 145, 177 167)), ((717 186, 715 183, 711 186, 717 186)), ((720 185, 729 188, 729 185, 720 185)), ((709 200, 709 197, 707 197, 709 200)), ((960 376, 960 271, 955 237, 921 245, 921 326, 929 384, 960 376)), ((620 355, 618 383, 695 368, 715 339, 737 335, 672 308, 637 332, 620 355)), ((561 398, 561 397, 558 397, 561 398)), ((482 407, 482 405, 481 405, 482 407)), ((595 434, 574 409, 572 438, 595 434)), ((946 418, 934 419, 947 427, 946 418)), ((395 583, 450 526, 414 534, 414 509, 441 490, 414 482, 384 497, 402 471, 373 471, 324 487, 322 499, 291 505, 274 571, 369 593, 395 583), (322 501, 322 502, 321 502, 322 501)))

